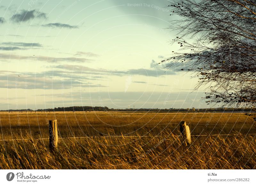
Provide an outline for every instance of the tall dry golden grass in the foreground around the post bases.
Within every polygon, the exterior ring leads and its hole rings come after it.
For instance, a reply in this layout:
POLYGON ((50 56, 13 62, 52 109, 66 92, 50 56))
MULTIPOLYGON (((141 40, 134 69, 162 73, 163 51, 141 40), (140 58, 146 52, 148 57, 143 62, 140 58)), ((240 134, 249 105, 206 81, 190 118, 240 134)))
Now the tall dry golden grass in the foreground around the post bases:
POLYGON ((0 145, 1 169, 255 169, 256 139, 241 134, 192 137, 94 138, 61 140, 50 151, 48 142, 28 140, 0 145))

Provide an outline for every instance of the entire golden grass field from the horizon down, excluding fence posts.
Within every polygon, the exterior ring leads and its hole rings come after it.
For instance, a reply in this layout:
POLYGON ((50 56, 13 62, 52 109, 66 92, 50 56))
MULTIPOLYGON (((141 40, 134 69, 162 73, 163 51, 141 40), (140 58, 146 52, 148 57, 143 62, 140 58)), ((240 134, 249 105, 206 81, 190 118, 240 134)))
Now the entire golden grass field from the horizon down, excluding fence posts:
POLYGON ((0 112, 0 125, 1 169, 256 168, 256 126, 242 112, 0 112), (63 138, 55 151, 52 119, 63 138))

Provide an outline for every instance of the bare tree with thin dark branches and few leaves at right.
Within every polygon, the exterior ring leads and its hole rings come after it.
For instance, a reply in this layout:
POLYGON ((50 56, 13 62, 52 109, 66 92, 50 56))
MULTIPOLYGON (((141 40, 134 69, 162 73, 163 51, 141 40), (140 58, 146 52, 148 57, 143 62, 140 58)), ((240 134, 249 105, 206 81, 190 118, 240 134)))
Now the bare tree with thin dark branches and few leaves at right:
POLYGON ((172 44, 180 51, 163 60, 166 68, 194 72, 207 103, 256 103, 255 0, 179 0, 169 5, 178 16, 172 44), (187 41, 188 40, 188 41, 187 41))

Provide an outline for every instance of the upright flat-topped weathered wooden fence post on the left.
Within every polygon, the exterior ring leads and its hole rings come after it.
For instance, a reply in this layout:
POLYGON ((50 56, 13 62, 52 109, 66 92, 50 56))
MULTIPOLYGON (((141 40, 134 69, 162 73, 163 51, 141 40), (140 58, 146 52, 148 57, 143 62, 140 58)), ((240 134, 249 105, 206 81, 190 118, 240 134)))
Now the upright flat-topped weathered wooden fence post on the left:
POLYGON ((49 120, 49 147, 54 149, 58 146, 58 128, 57 120, 49 120))

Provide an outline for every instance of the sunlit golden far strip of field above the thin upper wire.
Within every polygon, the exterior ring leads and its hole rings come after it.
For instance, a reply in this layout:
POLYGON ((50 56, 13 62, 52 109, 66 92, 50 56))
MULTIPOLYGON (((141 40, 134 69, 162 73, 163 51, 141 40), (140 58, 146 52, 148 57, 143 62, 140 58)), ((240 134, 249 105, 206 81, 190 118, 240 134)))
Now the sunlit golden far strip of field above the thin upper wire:
POLYGON ((244 124, 252 118, 244 113, 222 112, 0 112, 1 125, 46 125, 46 120, 57 119, 59 125, 146 125, 178 124, 244 124), (20 119, 20 121, 19 121, 20 119))

